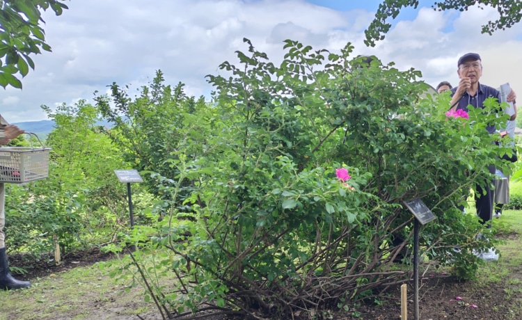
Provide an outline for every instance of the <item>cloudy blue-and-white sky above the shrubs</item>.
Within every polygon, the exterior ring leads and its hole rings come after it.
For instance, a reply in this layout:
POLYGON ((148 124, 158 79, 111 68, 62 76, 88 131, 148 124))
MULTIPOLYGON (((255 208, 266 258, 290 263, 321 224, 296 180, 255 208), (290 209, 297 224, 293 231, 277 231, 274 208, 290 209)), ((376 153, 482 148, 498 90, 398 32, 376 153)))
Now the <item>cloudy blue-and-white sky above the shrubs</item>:
POLYGON ((467 52, 482 57, 481 83, 509 83, 522 99, 522 24, 480 33, 496 19, 493 8, 438 12, 433 1, 402 11, 375 47, 366 47, 377 0, 72 0, 56 17, 44 13, 46 41, 52 52, 33 56, 35 70, 22 79, 23 89, 0 88, 0 113, 8 122, 47 120, 41 106, 54 109, 79 99, 94 103, 94 93, 108 93, 116 82, 137 88, 164 72, 167 84, 185 83, 187 95, 210 97, 207 74, 224 61, 237 64, 235 51, 246 52, 243 38, 278 65, 283 41, 298 40, 314 49, 339 51, 351 42, 354 56, 375 55, 399 70, 414 68, 420 80, 457 86, 457 60, 467 52))

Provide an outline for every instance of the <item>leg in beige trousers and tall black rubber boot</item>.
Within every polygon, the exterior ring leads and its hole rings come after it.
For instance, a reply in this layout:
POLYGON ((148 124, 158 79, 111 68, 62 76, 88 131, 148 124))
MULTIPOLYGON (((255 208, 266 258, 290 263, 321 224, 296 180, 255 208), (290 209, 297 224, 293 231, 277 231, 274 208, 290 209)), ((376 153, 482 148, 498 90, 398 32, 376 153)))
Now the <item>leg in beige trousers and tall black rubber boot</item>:
POLYGON ((13 278, 9 270, 9 263, 6 254, 5 235, 3 234, 3 226, 6 223, 6 214, 4 211, 5 185, 0 183, 0 289, 22 289, 31 287, 29 281, 19 281, 13 278))

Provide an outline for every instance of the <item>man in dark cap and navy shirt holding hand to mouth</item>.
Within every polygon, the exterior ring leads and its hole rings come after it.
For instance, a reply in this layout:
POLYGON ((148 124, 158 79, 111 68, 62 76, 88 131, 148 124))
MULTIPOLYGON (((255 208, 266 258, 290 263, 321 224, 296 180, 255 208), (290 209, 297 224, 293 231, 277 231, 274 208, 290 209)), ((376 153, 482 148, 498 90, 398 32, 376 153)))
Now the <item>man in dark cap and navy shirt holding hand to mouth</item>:
MULTIPOLYGON (((495 88, 485 86, 479 83, 480 76, 482 76, 482 63, 478 54, 468 53, 459 58, 457 63, 457 73, 459 74, 459 86, 452 88, 451 106, 454 111, 459 109, 468 111, 468 105, 475 108, 484 108, 484 100, 488 97, 494 97, 500 102, 500 93, 495 88)), ((515 103, 516 94, 513 90, 507 97, 508 102, 515 103)), ((486 127, 490 134, 495 132, 494 125, 486 127)), ((489 166, 489 172, 495 174, 495 166, 489 166)), ((492 182, 486 184, 486 194, 482 194, 482 188, 477 185, 477 192, 475 193, 475 207, 477 209, 477 216, 482 219, 482 223, 487 223, 491 220, 493 215, 493 193, 490 185, 492 182)))

